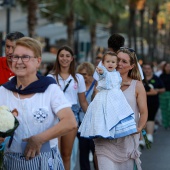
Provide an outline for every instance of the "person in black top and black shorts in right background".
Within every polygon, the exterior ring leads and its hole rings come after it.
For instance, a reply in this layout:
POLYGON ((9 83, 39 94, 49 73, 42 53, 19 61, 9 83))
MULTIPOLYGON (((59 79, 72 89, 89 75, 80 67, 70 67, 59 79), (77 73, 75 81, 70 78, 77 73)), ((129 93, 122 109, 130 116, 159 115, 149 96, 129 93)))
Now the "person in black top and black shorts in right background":
POLYGON ((151 63, 143 63, 142 68, 145 75, 143 82, 147 94, 148 107, 146 132, 148 140, 153 143, 155 116, 159 109, 159 94, 163 93, 165 88, 161 79, 154 75, 153 65, 151 63))

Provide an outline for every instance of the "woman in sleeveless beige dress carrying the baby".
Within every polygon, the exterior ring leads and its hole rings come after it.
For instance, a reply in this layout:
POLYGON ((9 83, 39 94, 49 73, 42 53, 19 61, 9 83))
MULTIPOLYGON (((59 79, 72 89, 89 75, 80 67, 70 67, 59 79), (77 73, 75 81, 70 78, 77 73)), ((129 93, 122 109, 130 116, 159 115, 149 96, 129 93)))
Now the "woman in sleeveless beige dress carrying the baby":
POLYGON ((121 90, 135 113, 137 133, 113 140, 94 139, 98 166, 101 170, 141 170, 138 146, 140 132, 147 121, 146 92, 141 81, 134 50, 122 47, 117 52, 117 56, 117 71, 119 71, 123 82, 121 90))

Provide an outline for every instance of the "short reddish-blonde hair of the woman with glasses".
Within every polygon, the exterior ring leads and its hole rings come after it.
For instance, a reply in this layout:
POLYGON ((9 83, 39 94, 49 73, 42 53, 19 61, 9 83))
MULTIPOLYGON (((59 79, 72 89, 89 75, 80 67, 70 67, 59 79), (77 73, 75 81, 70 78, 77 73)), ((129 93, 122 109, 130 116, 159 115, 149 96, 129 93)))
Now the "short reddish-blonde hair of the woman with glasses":
MULTIPOLYGON (((16 41, 16 46, 23 46, 34 52, 35 57, 41 57, 42 55, 42 45, 41 43, 30 37, 23 37, 16 41)), ((15 48, 16 48, 15 46, 15 48)))

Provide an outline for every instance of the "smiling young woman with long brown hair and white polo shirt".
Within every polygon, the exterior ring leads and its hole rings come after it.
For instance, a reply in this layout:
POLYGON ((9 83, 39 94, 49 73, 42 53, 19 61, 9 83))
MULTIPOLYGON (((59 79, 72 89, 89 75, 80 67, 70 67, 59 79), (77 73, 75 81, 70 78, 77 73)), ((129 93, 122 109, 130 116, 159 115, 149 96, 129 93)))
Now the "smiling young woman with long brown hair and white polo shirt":
MULTIPOLYGON (((51 74, 48 76, 53 77, 61 90, 64 91, 65 97, 72 105, 72 110, 78 124, 78 101, 84 112, 86 112, 88 103, 85 97, 86 86, 84 78, 82 75, 76 74, 75 58, 70 47, 62 46, 58 49, 54 68, 52 69, 51 74)), ((73 143, 77 135, 77 130, 78 129, 75 129, 67 135, 61 136, 60 138, 60 152, 66 170, 70 170, 70 157, 73 143)))

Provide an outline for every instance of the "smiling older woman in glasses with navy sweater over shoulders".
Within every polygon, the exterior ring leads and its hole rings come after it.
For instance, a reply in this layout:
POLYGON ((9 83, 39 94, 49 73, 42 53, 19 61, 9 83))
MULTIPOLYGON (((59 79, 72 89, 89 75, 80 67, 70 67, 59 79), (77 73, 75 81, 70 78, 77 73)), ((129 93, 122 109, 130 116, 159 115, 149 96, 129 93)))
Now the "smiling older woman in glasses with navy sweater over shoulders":
POLYGON ((12 144, 6 146, 7 170, 64 170, 57 138, 77 127, 71 105, 55 81, 37 75, 41 52, 37 40, 17 40, 11 57, 16 76, 0 87, 0 105, 17 111, 19 121, 12 144))

